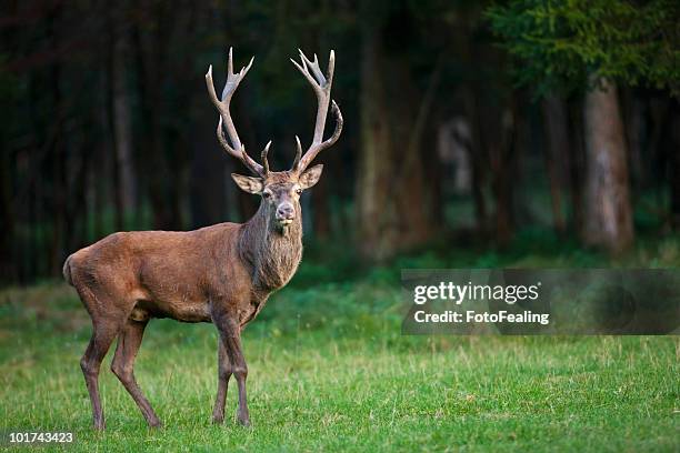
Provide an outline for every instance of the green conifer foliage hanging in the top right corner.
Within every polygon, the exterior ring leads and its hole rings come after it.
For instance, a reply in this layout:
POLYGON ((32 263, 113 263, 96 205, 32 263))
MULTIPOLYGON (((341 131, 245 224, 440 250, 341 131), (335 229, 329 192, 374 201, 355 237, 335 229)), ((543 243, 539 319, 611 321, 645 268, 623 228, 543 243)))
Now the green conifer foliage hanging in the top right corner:
POLYGON ((680 90, 680 3, 673 0, 513 0, 487 17, 539 93, 593 79, 680 90))

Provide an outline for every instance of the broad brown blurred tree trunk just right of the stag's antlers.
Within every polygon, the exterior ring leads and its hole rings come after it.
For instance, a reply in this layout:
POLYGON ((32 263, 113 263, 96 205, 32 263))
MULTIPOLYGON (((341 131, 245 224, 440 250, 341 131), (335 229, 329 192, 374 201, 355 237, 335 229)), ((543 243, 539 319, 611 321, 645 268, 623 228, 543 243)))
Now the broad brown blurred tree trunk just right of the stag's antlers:
POLYGON ((384 50, 382 31, 376 23, 362 30, 357 207, 359 248, 371 261, 422 244, 432 228, 420 153, 428 94, 416 94, 403 56, 384 50))

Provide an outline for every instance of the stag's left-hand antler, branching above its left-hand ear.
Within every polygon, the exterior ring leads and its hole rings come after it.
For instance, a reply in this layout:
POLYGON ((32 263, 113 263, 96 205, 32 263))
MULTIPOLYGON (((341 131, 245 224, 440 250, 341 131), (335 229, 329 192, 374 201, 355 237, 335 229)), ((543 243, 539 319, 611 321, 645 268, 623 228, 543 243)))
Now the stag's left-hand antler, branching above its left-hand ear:
POLYGON ((220 101, 217 97, 217 93, 214 92, 214 83, 212 81, 212 64, 210 64, 210 68, 208 68, 208 72, 206 73, 206 84, 208 85, 208 94, 210 95, 210 100, 212 101, 218 112, 220 113, 220 121, 217 128, 218 141, 229 154, 233 155, 234 158, 243 162, 243 164, 248 167, 248 169, 251 172, 260 177, 264 177, 269 172, 269 163, 267 162, 267 152, 269 151, 269 145, 271 144, 271 141, 267 144, 267 147, 262 151, 262 160, 264 163, 264 167, 262 167, 259 163, 257 163, 254 160, 252 160, 250 155, 248 155, 248 153, 246 152, 246 147, 243 147, 243 144, 241 143, 241 140, 239 139, 239 134, 236 130, 236 127, 233 125, 233 121, 231 120, 231 113, 229 112, 229 104, 231 102, 231 97, 233 95, 233 92, 239 87, 239 83, 241 83, 241 80, 243 80, 243 78, 250 70, 250 67, 252 66, 253 60, 254 60, 254 57, 250 59, 250 63, 248 63, 247 67, 241 68, 241 70, 234 74, 233 73, 232 48, 229 48, 229 64, 227 68, 227 82, 224 83, 224 89, 222 90, 222 100, 220 101), (229 142, 227 141, 227 138, 224 137, 222 124, 224 124, 224 127, 227 128, 227 133, 229 134, 229 140, 231 140, 231 145, 229 144, 229 142))

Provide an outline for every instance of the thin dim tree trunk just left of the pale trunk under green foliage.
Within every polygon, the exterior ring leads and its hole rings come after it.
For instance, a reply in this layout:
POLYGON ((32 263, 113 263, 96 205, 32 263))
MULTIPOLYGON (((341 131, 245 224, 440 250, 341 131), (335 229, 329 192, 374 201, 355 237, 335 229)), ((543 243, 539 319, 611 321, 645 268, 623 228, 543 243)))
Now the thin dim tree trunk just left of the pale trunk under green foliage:
POLYGON ((567 122, 567 108, 564 101, 558 95, 550 94, 543 100, 543 115, 546 118, 546 169, 550 184, 552 208, 552 222, 558 234, 566 230, 562 210, 562 188, 564 174, 561 163, 569 155, 569 124, 567 122))

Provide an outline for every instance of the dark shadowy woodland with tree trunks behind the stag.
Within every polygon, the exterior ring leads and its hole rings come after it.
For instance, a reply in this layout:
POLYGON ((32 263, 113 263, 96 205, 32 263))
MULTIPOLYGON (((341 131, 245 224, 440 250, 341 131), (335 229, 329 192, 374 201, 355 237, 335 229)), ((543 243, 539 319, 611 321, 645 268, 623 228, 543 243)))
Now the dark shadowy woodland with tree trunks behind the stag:
POLYGON ((229 47, 238 68, 254 56, 232 114, 253 159, 273 141, 274 170, 296 134, 311 141, 317 108, 289 58, 336 52, 344 130, 302 198, 312 258, 503 250, 527 230, 626 253, 680 228, 679 12, 622 0, 6 1, 0 279, 57 276, 116 231, 254 213, 203 78, 212 64, 221 87, 229 47))

